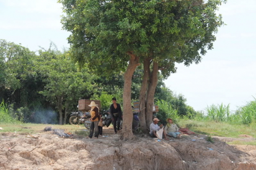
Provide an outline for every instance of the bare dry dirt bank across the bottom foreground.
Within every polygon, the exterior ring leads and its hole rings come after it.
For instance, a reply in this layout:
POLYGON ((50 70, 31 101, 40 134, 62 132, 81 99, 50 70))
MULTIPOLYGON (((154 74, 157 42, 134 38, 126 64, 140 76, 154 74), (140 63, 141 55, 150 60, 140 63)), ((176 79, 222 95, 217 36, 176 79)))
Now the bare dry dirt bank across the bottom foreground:
POLYGON ((256 169, 252 154, 246 150, 217 139, 209 143, 195 134, 160 142, 147 135, 136 135, 126 142, 119 140, 119 134, 99 139, 59 138, 51 132, 36 135, 40 136, 0 135, 0 169, 256 169))

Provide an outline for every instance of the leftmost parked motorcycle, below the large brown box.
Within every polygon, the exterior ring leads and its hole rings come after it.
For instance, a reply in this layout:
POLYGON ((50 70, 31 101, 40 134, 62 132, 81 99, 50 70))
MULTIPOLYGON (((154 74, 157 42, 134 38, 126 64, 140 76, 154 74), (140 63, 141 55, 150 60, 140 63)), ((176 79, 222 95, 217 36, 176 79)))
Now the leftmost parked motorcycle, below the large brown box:
POLYGON ((69 123, 72 125, 79 125, 81 123, 84 123, 85 128, 90 129, 90 124, 85 123, 90 121, 90 118, 91 118, 90 112, 85 112, 85 113, 82 113, 81 111, 71 112, 69 123))

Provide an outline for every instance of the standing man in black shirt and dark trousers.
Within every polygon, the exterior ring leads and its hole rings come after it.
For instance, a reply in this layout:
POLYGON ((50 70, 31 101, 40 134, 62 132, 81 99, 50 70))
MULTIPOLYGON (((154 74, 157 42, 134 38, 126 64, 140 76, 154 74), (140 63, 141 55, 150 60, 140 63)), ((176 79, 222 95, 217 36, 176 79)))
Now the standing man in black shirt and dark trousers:
POLYGON ((120 130, 120 120, 122 118, 122 109, 119 103, 116 103, 116 98, 112 98, 113 104, 110 105, 110 116, 113 122, 114 130, 116 133, 116 123, 117 123, 117 132, 120 130))

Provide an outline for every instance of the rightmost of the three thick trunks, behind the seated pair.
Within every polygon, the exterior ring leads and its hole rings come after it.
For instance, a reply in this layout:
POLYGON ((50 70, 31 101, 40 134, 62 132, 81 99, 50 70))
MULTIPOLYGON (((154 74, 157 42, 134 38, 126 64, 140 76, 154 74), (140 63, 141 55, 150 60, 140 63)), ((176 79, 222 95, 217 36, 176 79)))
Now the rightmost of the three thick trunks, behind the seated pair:
POLYGON ((152 123, 153 117, 153 103, 154 103, 154 95, 157 85, 157 72, 158 72, 158 63, 153 62, 153 70, 150 74, 147 93, 146 93, 146 124, 149 129, 150 124, 152 123))

